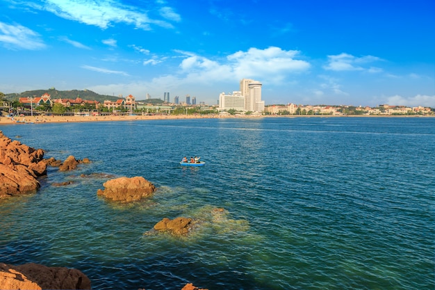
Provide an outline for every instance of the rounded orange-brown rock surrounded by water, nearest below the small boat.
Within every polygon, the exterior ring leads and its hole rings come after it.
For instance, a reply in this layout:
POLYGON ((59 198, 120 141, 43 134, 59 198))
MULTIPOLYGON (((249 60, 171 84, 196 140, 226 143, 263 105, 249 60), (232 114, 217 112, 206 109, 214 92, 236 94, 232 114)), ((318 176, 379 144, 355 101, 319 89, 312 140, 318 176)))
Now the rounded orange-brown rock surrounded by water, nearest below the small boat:
POLYGON ((97 195, 121 202, 133 202, 151 195, 156 186, 144 177, 120 177, 110 179, 103 184, 104 190, 99 189, 97 195))

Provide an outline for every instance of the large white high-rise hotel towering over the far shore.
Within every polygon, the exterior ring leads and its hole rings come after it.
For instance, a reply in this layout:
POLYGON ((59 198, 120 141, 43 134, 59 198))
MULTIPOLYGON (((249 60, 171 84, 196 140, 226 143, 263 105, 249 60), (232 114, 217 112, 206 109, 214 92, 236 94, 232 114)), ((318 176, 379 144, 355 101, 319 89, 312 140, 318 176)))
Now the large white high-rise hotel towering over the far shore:
POLYGON ((261 101, 261 86, 259 81, 242 79, 240 91, 234 91, 232 95, 225 95, 224 92, 219 95, 219 110, 263 112, 264 101, 261 101))

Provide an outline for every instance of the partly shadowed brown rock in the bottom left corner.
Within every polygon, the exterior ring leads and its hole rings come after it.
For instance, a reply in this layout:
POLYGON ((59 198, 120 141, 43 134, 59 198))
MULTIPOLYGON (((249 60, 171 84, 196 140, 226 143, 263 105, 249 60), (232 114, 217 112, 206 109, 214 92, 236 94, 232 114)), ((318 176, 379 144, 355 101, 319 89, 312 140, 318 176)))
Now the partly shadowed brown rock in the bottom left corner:
POLYGON ((91 289, 91 284, 85 274, 72 268, 0 263, 0 289, 91 289))

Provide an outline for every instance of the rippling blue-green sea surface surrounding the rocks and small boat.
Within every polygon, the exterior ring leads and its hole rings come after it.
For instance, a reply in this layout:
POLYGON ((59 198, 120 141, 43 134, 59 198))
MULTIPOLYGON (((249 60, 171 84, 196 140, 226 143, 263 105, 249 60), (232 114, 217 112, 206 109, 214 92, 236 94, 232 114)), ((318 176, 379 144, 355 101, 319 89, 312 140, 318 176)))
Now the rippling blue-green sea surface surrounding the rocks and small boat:
POLYGON ((38 193, 0 200, 0 261, 78 268, 92 289, 434 289, 435 118, 12 124, 45 157, 38 193), (204 167, 179 166, 201 156, 204 167), (85 175, 81 177, 81 175, 85 175), (97 196, 142 176, 130 204, 97 196), (72 181, 68 186, 54 182, 72 181), (223 208, 223 212, 213 209, 223 208), (197 221, 188 236, 152 231, 197 221))

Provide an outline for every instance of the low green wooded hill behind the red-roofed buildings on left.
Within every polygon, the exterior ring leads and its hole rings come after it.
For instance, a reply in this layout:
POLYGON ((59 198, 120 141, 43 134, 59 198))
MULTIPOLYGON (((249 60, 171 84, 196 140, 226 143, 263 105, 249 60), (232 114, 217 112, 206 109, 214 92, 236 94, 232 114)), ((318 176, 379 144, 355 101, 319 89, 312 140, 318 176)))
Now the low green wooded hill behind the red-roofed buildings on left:
POLYGON ((41 97, 46 92, 51 96, 51 99, 76 99, 76 97, 80 97, 81 99, 95 100, 101 103, 106 99, 110 101, 120 99, 120 97, 110 95, 99 95, 97 92, 92 92, 92 90, 56 90, 56 88, 49 88, 48 90, 26 90, 20 93, 14 92, 5 94, 5 98, 11 101, 18 101, 20 97, 41 97))

